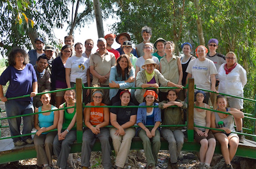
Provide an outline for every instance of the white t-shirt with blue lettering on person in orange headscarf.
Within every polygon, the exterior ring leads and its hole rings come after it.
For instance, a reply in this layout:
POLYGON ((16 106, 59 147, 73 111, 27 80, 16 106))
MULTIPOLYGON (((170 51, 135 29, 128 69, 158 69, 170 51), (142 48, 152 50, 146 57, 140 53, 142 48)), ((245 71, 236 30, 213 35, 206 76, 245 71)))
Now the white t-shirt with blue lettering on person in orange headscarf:
POLYGON ((210 76, 218 74, 214 63, 210 59, 204 61, 193 59, 189 62, 186 72, 190 73, 192 78, 195 79, 196 87, 209 91, 211 90, 210 76))

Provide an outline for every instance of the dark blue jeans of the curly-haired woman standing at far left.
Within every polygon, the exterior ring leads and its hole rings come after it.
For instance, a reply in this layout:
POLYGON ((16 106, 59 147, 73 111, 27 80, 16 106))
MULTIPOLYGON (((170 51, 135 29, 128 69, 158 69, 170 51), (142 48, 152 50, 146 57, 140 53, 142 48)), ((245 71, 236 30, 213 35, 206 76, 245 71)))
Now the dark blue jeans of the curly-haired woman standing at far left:
MULTIPOLYGON (((15 115, 32 114, 34 112, 32 101, 17 101, 15 99, 8 100, 5 102, 5 108, 6 108, 7 117, 13 117, 15 115)), ((22 135, 31 133, 33 128, 34 116, 28 115, 28 116, 22 117, 22 119, 23 119, 22 135)), ((21 117, 8 119, 11 136, 20 135, 20 122, 21 122, 21 117)), ((13 139, 13 142, 17 142, 19 140, 26 141, 28 138, 31 138, 31 135, 22 136, 22 138, 16 137, 12 139, 13 139)))

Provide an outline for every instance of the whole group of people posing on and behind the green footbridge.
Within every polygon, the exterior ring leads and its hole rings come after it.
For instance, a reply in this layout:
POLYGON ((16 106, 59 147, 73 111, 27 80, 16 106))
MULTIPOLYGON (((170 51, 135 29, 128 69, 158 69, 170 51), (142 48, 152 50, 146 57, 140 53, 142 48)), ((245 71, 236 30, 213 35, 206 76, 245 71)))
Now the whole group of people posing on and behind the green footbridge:
MULTIPOLYGON (((22 117, 22 134, 31 133, 33 126, 37 129, 34 140, 27 135, 15 137, 14 145, 34 142, 38 165, 51 168, 51 156, 54 152, 58 158, 57 165, 60 168, 68 168, 70 146, 76 140, 76 92, 61 90, 52 96, 49 93, 40 96, 36 94, 74 87, 76 78, 82 78, 84 87, 93 85, 113 88, 100 90, 96 87, 93 91, 83 89, 83 102, 88 106, 96 106, 84 108, 86 128, 81 153, 83 168, 90 167, 90 154, 96 138, 99 138, 102 146, 102 165, 104 168, 112 168, 109 136, 113 140, 116 154, 115 168, 127 167, 125 164, 135 135, 140 136, 143 142, 147 168, 156 168, 157 153, 161 146, 160 136, 169 143, 169 165, 177 168, 184 143, 182 128, 160 129, 159 125, 179 125, 186 121, 186 113, 183 110, 186 110, 188 105, 183 87, 188 84, 188 78, 194 78, 199 89, 195 92, 195 105, 209 108, 208 104, 211 104, 215 110, 229 114, 194 109, 195 140, 201 144, 200 168, 209 168, 216 145, 215 138, 221 143, 221 152, 227 168, 232 168, 230 161, 236 154, 239 140, 243 142, 243 135, 238 137, 231 133, 235 131, 232 116, 237 132, 242 133, 243 99, 226 99, 217 95, 221 92, 243 97, 246 71, 237 64, 236 54, 218 54, 218 40, 211 39, 208 42, 209 53, 203 45, 196 48, 197 58, 191 55, 192 45, 183 43, 183 57, 180 58, 174 55, 175 44, 172 41, 158 38, 154 44, 150 43, 150 27, 143 27, 141 36, 143 42, 134 49, 128 33, 118 36, 107 34, 97 41, 98 50, 95 54, 92 54, 92 40, 85 41, 86 50, 83 53, 83 44, 74 45, 74 37, 66 36, 65 46, 55 59, 54 47, 46 45, 44 51, 42 38, 35 40, 36 49, 28 54, 20 48, 13 49, 8 56, 10 66, 0 77, 0 99, 5 102, 8 117, 32 114, 35 108, 34 117, 22 117), (115 39, 121 45, 116 50, 111 48, 115 39), (10 82, 10 85, 4 96, 3 85, 7 82, 10 82), (129 89, 131 87, 141 89, 129 89), (159 87, 175 89, 157 89, 159 87), (30 96, 7 99, 27 94, 30 96), (158 99, 160 103, 157 103, 158 99), (109 110, 102 107, 104 105, 124 108, 113 107, 109 110), (140 107, 137 110, 129 107, 130 105, 148 107, 140 107), (227 108, 228 105, 230 108, 227 108), (56 110, 58 108, 61 110, 56 110), (109 122, 113 128, 105 128, 109 122), (132 128, 134 124, 138 124, 138 128, 132 128), (210 127, 221 130, 207 129, 210 127), (51 131, 55 128, 58 129, 57 132, 51 131)), ((20 118, 8 119, 12 136, 20 135, 20 118)))

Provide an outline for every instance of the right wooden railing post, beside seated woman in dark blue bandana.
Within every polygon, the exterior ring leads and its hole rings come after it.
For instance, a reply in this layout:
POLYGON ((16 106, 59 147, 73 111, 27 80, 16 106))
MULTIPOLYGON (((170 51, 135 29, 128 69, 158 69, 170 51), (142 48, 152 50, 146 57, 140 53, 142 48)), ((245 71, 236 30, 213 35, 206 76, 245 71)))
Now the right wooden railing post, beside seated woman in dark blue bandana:
POLYGON ((194 101, 195 83, 194 78, 188 80, 188 142, 194 142, 194 101))

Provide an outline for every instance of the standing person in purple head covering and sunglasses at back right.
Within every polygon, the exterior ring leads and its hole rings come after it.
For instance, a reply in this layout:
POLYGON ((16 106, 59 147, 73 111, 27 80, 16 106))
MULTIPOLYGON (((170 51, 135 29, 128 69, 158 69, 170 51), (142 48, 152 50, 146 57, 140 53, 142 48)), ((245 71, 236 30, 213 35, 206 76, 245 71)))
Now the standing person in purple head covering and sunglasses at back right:
MULTIPOLYGON (((218 71, 221 64, 225 63, 225 55, 219 54, 216 52, 218 48, 219 41, 217 39, 212 38, 211 40, 208 41, 208 48, 209 48, 209 53, 206 55, 207 59, 210 59, 212 62, 214 62, 214 65, 216 67, 216 70, 218 71)), ((216 77, 216 90, 218 91, 218 85, 220 84, 218 74, 215 75, 216 77)), ((211 93, 211 102, 212 102, 212 107, 214 109, 216 108, 216 97, 217 94, 211 93)))

